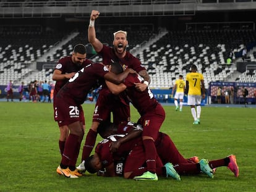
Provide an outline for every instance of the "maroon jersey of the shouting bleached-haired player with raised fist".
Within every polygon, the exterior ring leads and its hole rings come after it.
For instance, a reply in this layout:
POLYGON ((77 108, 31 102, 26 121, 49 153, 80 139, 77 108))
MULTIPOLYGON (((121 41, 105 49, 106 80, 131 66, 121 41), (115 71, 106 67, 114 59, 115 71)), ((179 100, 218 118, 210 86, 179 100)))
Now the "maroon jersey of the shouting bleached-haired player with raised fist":
POLYGON ((100 52, 98 52, 103 58, 103 64, 109 65, 112 61, 119 62, 119 64, 126 68, 130 68, 139 73, 141 70, 146 70, 145 67, 142 66, 141 62, 138 58, 134 57, 130 52, 126 51, 126 56, 123 58, 118 58, 114 53, 114 49, 103 45, 103 48, 100 52))

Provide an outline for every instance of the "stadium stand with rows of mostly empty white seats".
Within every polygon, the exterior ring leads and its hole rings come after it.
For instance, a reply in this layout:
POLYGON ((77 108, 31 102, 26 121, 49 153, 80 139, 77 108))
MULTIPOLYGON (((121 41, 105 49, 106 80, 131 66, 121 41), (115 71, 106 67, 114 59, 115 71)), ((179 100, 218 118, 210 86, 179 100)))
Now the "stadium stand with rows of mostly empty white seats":
MULTIPOLYGON (((118 26, 117 26, 118 27, 118 26)), ((96 31, 101 42, 111 45, 117 27, 96 31)), ((244 46, 255 43, 254 30, 153 31, 127 27, 129 47, 145 65, 151 77, 151 88, 170 88, 179 74, 186 77, 190 65, 196 64, 205 76, 208 88, 211 81, 228 81, 236 72, 244 46), (241 38, 242 37, 242 38, 241 38), (227 66, 230 49, 234 50, 233 64, 227 66)), ((87 31, 46 31, 40 26, 1 30, 0 84, 12 79, 14 83, 32 80, 51 81, 52 70, 63 56, 70 55, 75 44, 87 45, 88 58, 101 61, 87 40, 87 31), (30 30, 28 30, 30 29, 30 30), (41 62, 36 70, 36 62, 41 62)), ((249 51, 249 50, 248 50, 249 51)), ((253 55, 253 54, 252 54, 253 55)), ((234 81, 255 83, 255 70, 246 70, 234 81)))

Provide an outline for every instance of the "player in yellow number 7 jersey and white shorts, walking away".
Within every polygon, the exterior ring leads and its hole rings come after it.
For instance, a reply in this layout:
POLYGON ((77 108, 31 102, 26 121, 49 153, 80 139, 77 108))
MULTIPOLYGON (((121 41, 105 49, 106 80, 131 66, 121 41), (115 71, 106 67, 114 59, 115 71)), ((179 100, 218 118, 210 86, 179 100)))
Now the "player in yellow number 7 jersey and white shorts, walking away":
POLYGON ((186 93, 187 104, 190 106, 194 118, 193 124, 197 125, 200 123, 201 100, 205 99, 205 83, 203 74, 197 72, 197 66, 194 64, 191 66, 191 72, 186 76, 186 93), (195 106, 197 106, 196 110, 195 106))

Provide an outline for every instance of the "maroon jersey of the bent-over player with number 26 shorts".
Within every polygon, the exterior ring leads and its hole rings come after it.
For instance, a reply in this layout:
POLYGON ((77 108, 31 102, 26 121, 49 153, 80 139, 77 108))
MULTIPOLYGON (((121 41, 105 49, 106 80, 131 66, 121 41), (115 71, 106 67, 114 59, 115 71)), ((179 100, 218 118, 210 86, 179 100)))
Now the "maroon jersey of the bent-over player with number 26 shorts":
POLYGON ((63 101, 72 98, 77 105, 83 104, 89 91, 102 84, 104 82, 104 75, 108 72, 108 68, 103 64, 87 65, 77 72, 73 78, 70 78, 66 85, 62 86, 57 94, 57 98, 61 98, 63 101))

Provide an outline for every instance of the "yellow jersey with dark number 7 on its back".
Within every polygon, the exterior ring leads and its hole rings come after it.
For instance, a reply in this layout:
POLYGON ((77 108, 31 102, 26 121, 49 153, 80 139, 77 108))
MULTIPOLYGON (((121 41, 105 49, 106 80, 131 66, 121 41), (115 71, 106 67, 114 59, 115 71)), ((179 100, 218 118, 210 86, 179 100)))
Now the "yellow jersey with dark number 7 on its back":
POLYGON ((187 73, 186 81, 189 81, 189 95, 201 95, 201 80, 203 74, 197 72, 187 73))

